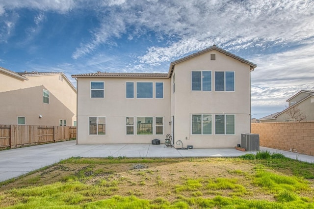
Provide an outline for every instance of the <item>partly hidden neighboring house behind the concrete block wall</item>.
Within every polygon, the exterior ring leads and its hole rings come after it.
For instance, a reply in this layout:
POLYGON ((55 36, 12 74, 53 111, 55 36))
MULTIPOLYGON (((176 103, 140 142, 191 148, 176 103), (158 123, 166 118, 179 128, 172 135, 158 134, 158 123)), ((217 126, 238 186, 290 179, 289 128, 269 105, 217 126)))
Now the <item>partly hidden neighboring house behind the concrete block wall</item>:
POLYGON ((301 90, 290 97, 288 107, 281 112, 276 112, 269 117, 263 117, 261 122, 289 122, 314 120, 314 91, 301 90))

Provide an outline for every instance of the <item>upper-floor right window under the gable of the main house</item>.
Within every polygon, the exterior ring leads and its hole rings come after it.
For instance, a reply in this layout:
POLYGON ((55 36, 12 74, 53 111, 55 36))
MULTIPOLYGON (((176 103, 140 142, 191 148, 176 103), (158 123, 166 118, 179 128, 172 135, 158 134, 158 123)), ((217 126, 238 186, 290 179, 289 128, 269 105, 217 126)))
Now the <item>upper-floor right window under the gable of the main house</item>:
POLYGON ((235 91, 235 72, 216 71, 215 91, 235 91))

